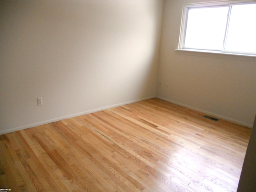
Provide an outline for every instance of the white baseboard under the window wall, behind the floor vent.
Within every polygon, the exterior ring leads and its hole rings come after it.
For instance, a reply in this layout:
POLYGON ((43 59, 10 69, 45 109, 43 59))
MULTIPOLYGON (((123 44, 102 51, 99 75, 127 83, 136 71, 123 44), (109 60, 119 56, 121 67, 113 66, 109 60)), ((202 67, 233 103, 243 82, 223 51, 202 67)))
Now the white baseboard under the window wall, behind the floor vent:
POLYGON ((195 107, 192 107, 192 106, 189 106, 189 105, 186 105, 186 104, 182 104, 182 103, 179 103, 179 102, 176 102, 176 101, 173 101, 173 100, 169 100, 169 99, 166 99, 166 98, 162 98, 162 97, 158 97, 158 96, 156 96, 156 98, 164 100, 164 101, 167 101, 167 102, 170 102, 170 103, 173 103, 173 104, 176 104, 176 105, 179 105, 179 106, 190 108, 190 109, 196 110, 198 112, 202 112, 202 113, 205 113, 205 114, 208 114, 208 115, 212 115, 212 116, 215 116, 215 117, 218 117, 218 118, 221 118, 221 119, 224 119, 224 120, 227 120, 227 121, 230 121, 230 122, 242 125, 242 126, 246 126, 246 127, 252 128, 252 124, 248 124, 248 123, 245 123, 245 122, 234 120, 234 119, 229 118, 229 117, 225 117, 225 116, 222 116, 222 115, 219 115, 219 114, 215 114, 215 113, 212 113, 212 112, 209 112, 209 111, 198 109, 198 108, 195 108, 195 107))

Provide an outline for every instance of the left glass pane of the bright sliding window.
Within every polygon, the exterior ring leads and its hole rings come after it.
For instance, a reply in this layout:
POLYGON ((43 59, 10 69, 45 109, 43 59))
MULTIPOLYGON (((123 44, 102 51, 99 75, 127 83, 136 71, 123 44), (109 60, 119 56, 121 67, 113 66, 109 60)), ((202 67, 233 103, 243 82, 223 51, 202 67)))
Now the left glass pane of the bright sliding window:
POLYGON ((228 6, 188 10, 184 48, 222 50, 227 15, 228 6))

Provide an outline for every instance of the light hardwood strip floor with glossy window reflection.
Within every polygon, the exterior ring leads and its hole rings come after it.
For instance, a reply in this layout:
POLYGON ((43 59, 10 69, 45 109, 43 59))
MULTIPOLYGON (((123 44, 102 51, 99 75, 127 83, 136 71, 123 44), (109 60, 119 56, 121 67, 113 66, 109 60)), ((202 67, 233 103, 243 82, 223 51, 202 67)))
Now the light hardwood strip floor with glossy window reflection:
POLYGON ((0 188, 236 192, 251 129, 158 99, 0 136, 0 188))

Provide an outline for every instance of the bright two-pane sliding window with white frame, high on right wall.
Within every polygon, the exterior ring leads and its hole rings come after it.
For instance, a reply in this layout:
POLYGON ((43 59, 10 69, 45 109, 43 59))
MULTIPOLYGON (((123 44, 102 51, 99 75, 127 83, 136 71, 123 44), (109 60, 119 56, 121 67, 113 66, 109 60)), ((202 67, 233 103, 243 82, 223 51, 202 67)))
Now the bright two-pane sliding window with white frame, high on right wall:
POLYGON ((256 1, 184 5, 179 50, 256 56, 256 1))

